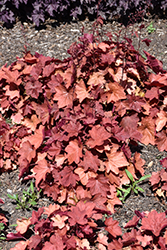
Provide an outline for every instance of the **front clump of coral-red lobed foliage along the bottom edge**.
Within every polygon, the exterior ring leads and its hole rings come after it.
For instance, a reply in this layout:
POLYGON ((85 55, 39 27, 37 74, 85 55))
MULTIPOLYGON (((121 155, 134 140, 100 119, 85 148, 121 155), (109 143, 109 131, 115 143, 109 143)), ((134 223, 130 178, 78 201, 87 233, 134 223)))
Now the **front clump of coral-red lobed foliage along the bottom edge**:
POLYGON ((118 221, 107 218, 103 226, 98 226, 92 202, 79 201, 76 207, 50 205, 33 211, 29 219, 17 220, 17 233, 9 233, 7 239, 21 239, 10 250, 25 249, 108 249, 132 250, 166 249, 167 217, 165 213, 135 211, 136 215, 126 225, 129 229, 122 235, 118 221), (45 215, 45 218, 43 218, 45 215), (46 217, 47 216, 47 217, 46 217), (32 232, 29 239, 26 233, 32 232))

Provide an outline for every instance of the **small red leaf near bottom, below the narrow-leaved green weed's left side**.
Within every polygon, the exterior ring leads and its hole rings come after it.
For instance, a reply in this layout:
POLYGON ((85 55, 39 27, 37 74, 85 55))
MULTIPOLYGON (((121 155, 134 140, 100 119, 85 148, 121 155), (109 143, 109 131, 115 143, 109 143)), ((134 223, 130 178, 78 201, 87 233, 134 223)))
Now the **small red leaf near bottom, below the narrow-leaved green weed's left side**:
POLYGON ((105 220, 104 224, 107 226, 105 230, 107 230, 114 238, 122 234, 121 228, 118 226, 119 222, 113 220, 112 217, 105 220))

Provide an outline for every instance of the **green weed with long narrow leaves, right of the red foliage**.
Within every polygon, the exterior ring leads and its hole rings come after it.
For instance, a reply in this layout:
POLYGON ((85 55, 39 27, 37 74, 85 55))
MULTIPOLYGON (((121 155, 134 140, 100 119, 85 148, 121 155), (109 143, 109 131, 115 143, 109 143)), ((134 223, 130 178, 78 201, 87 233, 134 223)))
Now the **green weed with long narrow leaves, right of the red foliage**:
POLYGON ((148 175, 142 176, 139 180, 135 181, 133 178, 133 175, 127 169, 125 169, 125 172, 130 180, 130 184, 125 185, 126 188, 119 188, 119 187, 117 188, 117 196, 123 203, 125 201, 125 198, 131 192, 134 192, 135 194, 138 194, 138 192, 144 192, 144 190, 141 187, 139 187, 137 184, 151 177, 151 174, 148 174, 148 175))

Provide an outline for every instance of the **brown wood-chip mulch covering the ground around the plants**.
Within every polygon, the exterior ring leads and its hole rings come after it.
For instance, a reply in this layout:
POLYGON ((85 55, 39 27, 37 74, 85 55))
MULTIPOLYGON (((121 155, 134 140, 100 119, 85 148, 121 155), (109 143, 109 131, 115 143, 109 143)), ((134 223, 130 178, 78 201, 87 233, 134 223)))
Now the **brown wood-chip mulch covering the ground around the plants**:
MULTIPOLYGON (((149 47, 145 43, 140 44, 140 52, 146 50, 157 59, 162 60, 164 69, 167 70, 167 19, 144 19, 142 22, 145 24, 145 28, 141 30, 141 40, 149 38, 152 40, 149 47), (148 34, 147 27, 153 21, 153 27, 156 29, 151 34, 148 34)), ((93 21, 73 21, 71 23, 57 23, 54 20, 47 20, 44 25, 38 29, 33 24, 17 22, 12 29, 7 29, 0 26, 0 67, 5 63, 10 65, 16 60, 16 57, 22 57, 24 51, 24 45, 32 52, 38 52, 45 56, 51 56, 58 59, 64 59, 68 57, 67 49, 73 42, 78 41, 78 37, 81 36, 81 28, 84 26, 84 32, 90 32, 92 29, 93 21)), ((140 23, 141 24, 141 23, 140 23)), ((119 22, 108 22, 104 24, 102 28, 103 38, 104 33, 111 32, 113 34, 113 40, 116 39, 114 33, 123 28, 120 41, 124 35, 132 37, 132 30, 139 31, 140 24, 135 24, 133 27, 125 29, 119 22)), ((133 44, 138 49, 139 41, 134 35, 133 44)), ((139 145, 133 149, 138 150, 141 153, 141 157, 146 161, 145 174, 149 174, 161 169, 160 159, 167 157, 167 152, 159 152, 154 146, 139 145)), ((16 220, 22 217, 30 217, 31 211, 16 210, 16 204, 7 197, 7 193, 16 194, 22 196, 22 191, 27 189, 29 182, 22 183, 18 180, 18 170, 14 170, 10 173, 3 173, 0 175, 0 198, 4 200, 4 204, 0 206, 0 212, 6 214, 9 220, 9 225, 16 224, 16 220)), ((150 188, 150 185, 145 181, 140 185, 145 193, 138 196, 132 194, 128 197, 125 204, 122 207, 116 208, 116 213, 113 218, 119 221, 119 225, 123 228, 134 215, 135 210, 151 211, 155 209, 158 212, 164 212, 167 209, 167 200, 163 197, 155 196, 150 188)), ((41 197, 38 201, 37 208, 42 206, 48 206, 53 203, 51 199, 47 197, 41 197)), ((14 227, 9 227, 8 232, 15 232, 14 227)), ((0 248, 3 250, 9 250, 14 247, 16 242, 0 242, 0 248)))

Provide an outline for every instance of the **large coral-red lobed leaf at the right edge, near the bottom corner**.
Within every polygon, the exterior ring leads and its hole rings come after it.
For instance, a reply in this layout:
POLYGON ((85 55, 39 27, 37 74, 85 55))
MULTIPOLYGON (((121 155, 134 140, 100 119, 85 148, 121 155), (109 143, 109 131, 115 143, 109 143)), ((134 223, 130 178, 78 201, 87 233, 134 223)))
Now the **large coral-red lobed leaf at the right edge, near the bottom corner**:
POLYGON ((165 213, 158 214, 157 211, 151 211, 146 218, 142 219, 142 230, 149 230, 155 236, 159 236, 162 229, 167 227, 167 218, 165 213))

